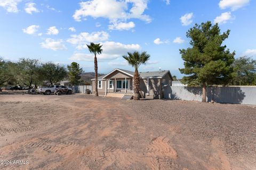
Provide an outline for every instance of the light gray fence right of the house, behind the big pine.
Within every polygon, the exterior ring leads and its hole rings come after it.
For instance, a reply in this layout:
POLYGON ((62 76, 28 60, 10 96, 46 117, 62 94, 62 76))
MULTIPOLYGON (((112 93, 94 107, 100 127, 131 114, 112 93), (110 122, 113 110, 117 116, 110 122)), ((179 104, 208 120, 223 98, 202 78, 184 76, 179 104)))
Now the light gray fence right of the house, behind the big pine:
MULTIPOLYGON (((202 101, 200 87, 166 87, 165 99, 202 101)), ((206 100, 218 103, 256 105, 256 87, 209 87, 206 100)))

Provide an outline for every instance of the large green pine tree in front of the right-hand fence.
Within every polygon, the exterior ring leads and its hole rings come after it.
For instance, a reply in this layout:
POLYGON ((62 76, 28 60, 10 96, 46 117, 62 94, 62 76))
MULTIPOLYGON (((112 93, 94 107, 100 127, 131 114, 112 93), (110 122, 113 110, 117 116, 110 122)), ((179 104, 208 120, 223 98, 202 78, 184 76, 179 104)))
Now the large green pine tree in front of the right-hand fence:
POLYGON ((210 21, 195 24, 187 32, 191 39, 187 49, 180 49, 184 60, 184 69, 179 69, 188 76, 182 82, 193 86, 203 87, 203 102, 206 102, 206 86, 208 84, 227 84, 233 78, 235 52, 230 53, 223 41, 228 38, 230 30, 221 33, 218 23, 210 21))

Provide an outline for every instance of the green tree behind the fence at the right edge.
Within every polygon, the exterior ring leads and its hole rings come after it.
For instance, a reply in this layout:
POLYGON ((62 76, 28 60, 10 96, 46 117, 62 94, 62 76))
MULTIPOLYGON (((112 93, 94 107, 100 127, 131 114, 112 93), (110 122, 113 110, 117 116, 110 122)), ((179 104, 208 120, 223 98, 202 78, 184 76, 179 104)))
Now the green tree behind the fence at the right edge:
POLYGON ((231 85, 253 86, 256 85, 256 60, 251 57, 239 57, 233 63, 235 76, 231 85))

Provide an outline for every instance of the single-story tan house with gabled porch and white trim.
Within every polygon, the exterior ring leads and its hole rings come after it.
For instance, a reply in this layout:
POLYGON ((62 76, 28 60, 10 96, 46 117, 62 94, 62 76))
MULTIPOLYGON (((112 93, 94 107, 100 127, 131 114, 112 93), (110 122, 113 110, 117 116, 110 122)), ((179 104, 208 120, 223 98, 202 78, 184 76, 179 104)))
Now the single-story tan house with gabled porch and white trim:
MULTIPOLYGON (((134 72, 114 69, 108 74, 98 77, 99 95, 113 96, 113 94, 133 94, 134 72)), ((140 72, 141 98, 162 98, 164 87, 172 86, 172 75, 169 70, 140 72)), ((95 93, 95 79, 92 79, 92 92, 95 93)))

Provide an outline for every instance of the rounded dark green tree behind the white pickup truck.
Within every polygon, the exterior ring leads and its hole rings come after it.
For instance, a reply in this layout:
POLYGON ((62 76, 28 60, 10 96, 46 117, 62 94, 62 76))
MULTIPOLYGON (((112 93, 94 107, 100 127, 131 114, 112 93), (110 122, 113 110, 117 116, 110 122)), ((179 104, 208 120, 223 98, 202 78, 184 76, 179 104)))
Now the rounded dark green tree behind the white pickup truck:
POLYGON ((67 70, 64 66, 48 62, 42 64, 41 74, 44 80, 53 84, 63 80, 67 76, 67 70))

